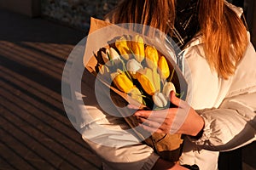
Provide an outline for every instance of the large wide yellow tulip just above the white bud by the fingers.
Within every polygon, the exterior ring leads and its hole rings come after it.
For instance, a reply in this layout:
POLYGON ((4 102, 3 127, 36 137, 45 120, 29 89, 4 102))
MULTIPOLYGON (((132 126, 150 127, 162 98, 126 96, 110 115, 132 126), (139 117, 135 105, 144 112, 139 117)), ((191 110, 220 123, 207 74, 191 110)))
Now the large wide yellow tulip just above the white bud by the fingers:
POLYGON ((154 93, 160 91, 160 75, 156 69, 151 70, 146 67, 143 70, 137 71, 137 80, 147 94, 154 95, 154 93))

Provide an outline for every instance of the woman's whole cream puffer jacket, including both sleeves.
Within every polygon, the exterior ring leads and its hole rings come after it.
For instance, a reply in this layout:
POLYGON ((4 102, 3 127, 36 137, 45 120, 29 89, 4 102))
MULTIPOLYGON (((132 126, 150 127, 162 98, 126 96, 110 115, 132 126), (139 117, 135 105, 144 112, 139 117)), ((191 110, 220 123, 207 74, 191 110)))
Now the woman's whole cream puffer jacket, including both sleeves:
MULTIPOLYGON (((184 59, 185 78, 189 82, 188 102, 204 118, 205 127, 201 139, 185 139, 180 162, 195 163, 201 170, 215 170, 218 151, 233 150, 256 139, 255 50, 249 42, 235 75, 228 80, 211 71, 201 37, 195 37, 184 49, 184 59)), ((106 113, 118 114, 118 111, 104 95, 109 94, 108 89, 97 85, 96 91, 100 91, 102 99, 106 98, 103 105, 108 111, 100 109, 94 95, 94 77, 86 74, 83 107, 93 119, 88 122, 82 117, 80 120, 84 120, 80 126, 84 141, 102 157, 104 169, 151 169, 159 156, 134 133, 124 131, 129 126, 122 117, 106 113)))

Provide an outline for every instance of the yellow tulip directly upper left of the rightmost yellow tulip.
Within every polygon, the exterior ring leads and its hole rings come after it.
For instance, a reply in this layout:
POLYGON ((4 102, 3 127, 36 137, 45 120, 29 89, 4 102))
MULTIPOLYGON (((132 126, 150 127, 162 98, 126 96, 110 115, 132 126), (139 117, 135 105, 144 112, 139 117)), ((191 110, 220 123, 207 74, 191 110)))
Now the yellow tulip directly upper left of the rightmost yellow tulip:
POLYGON ((152 46, 147 46, 145 49, 145 57, 149 68, 157 68, 159 56, 156 48, 152 46))

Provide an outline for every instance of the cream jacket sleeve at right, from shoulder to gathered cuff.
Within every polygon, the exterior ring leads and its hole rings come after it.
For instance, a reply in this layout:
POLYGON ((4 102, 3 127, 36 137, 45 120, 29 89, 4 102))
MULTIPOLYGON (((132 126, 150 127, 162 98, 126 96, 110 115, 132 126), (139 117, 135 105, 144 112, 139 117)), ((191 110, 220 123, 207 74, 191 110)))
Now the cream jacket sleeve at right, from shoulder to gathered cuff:
POLYGON ((218 108, 197 111, 205 121, 201 139, 207 150, 233 150, 256 139, 256 54, 251 43, 232 78, 229 93, 218 108))

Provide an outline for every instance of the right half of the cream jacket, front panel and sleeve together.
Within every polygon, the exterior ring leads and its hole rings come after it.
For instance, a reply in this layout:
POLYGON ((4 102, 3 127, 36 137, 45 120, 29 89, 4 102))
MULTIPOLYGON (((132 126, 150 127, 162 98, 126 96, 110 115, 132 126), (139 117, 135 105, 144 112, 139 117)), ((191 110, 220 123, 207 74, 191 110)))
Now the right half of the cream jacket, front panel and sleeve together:
POLYGON ((248 44, 235 75, 218 77, 205 58, 201 37, 185 48, 189 104, 204 118, 201 139, 185 139, 181 163, 217 169, 218 151, 233 150, 256 139, 256 54, 248 44), (215 151, 216 150, 216 151, 215 151))

